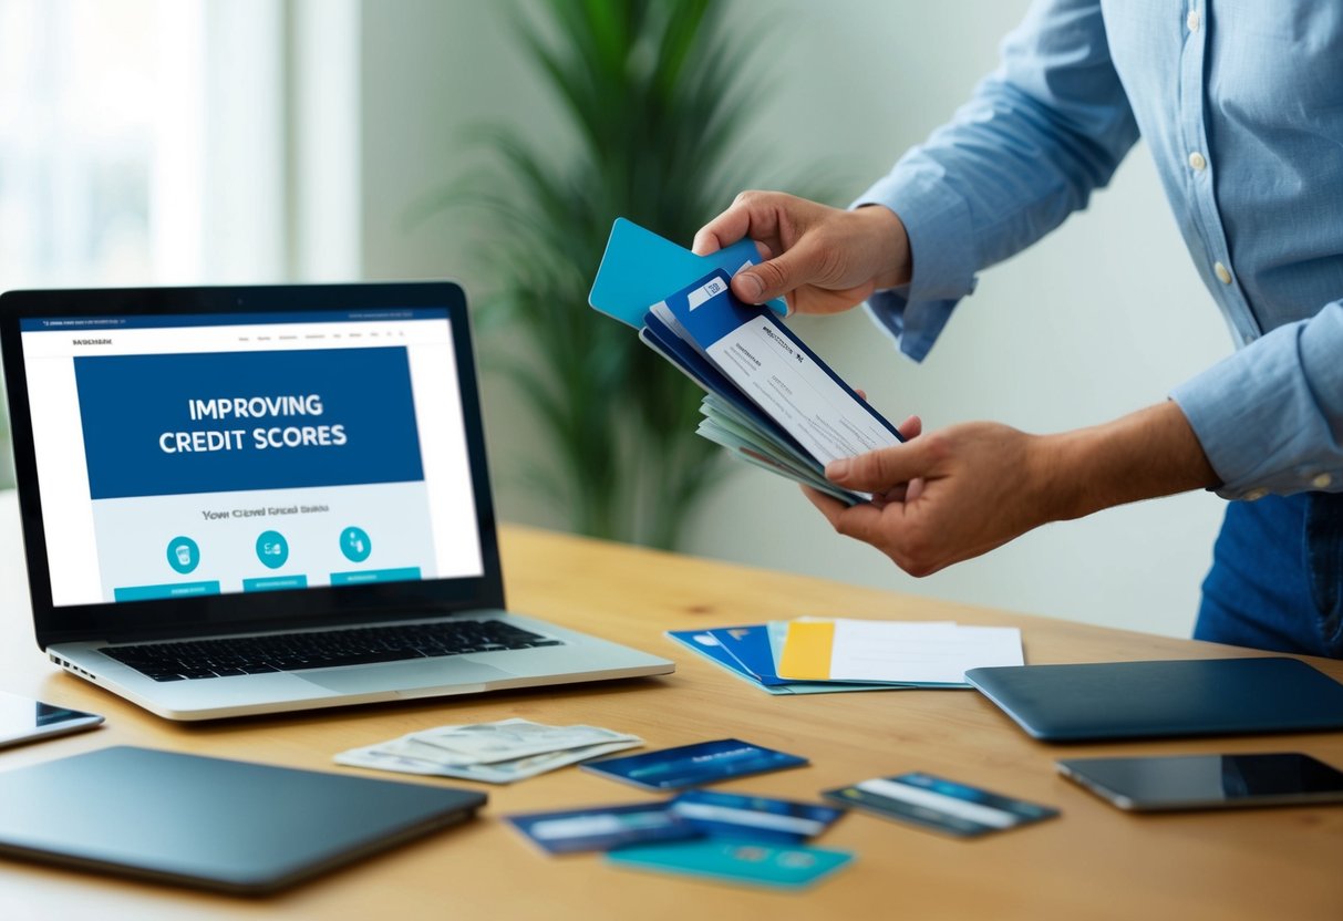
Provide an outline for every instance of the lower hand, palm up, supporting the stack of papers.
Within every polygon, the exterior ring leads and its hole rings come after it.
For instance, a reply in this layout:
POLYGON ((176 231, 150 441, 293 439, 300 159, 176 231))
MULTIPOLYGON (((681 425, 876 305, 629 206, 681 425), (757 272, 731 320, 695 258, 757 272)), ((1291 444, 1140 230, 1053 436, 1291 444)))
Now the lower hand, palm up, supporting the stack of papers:
POLYGON ((987 422, 928 435, 920 430, 912 418, 900 426, 904 444, 826 467, 835 485, 872 493, 870 503, 845 506, 814 489, 803 491, 837 532, 872 544, 912 576, 979 556, 1061 517, 1050 495, 1048 439, 987 422))

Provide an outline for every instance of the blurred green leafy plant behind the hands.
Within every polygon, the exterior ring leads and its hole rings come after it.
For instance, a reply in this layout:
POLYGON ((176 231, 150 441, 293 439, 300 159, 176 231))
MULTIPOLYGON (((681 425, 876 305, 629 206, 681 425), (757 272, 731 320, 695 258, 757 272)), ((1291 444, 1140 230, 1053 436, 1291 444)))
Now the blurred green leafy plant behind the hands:
POLYGON ((749 55, 713 0, 551 0, 513 21, 568 115, 576 153, 482 133, 497 169, 428 211, 485 207, 485 258, 505 285, 486 306, 525 338, 489 371, 525 395, 551 454, 533 485, 573 530, 670 548, 714 483, 721 452, 694 434, 701 392, 633 330, 587 307, 618 216, 688 246, 748 173, 731 154, 755 95, 749 55), (483 191, 482 191, 483 189, 483 191))

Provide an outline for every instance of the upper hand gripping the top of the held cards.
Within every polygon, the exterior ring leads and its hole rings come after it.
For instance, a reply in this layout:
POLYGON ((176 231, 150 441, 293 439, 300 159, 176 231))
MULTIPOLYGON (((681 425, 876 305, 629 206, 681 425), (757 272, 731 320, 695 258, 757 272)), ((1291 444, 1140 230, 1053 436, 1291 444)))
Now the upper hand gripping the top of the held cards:
POLYGON ((743 238, 761 244, 766 258, 732 279, 747 303, 786 297, 790 310, 839 313, 907 283, 912 271, 905 226, 881 205, 845 211, 783 192, 743 192, 700 228, 694 251, 708 255, 743 238))

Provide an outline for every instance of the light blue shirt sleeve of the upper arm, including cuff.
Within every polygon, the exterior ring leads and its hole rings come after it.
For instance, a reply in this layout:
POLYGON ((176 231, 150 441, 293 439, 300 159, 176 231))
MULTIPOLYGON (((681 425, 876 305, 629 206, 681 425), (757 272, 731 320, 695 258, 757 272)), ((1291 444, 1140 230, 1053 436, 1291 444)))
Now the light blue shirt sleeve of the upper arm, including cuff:
POLYGON ((854 207, 880 204, 909 232, 909 285, 872 317, 920 361, 975 273, 1086 207, 1138 140, 1099 0, 1038 0, 1005 39, 1002 66, 854 207))

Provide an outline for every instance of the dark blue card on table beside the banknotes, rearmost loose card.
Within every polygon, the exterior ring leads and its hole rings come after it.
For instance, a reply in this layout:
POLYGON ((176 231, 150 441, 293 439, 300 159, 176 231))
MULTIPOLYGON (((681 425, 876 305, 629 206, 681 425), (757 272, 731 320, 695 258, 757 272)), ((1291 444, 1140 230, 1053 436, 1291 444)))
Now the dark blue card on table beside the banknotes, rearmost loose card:
POLYGON ((798 768, 807 759, 744 742, 740 738, 716 738, 659 752, 603 759, 580 765, 584 771, 634 784, 641 789, 681 789, 732 777, 745 777, 767 771, 798 768))

